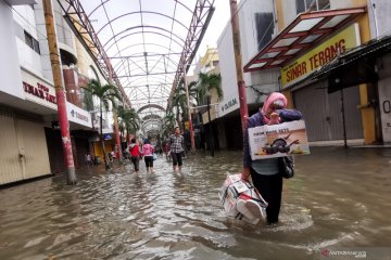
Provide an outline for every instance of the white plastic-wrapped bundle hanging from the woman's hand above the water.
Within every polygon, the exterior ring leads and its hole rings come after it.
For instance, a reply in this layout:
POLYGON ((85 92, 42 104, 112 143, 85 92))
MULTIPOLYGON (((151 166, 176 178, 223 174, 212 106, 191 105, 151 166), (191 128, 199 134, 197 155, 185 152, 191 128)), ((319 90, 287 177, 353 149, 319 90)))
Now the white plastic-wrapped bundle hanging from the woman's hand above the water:
POLYGON ((240 174, 227 174, 218 197, 228 217, 256 224, 266 219, 267 203, 240 174))

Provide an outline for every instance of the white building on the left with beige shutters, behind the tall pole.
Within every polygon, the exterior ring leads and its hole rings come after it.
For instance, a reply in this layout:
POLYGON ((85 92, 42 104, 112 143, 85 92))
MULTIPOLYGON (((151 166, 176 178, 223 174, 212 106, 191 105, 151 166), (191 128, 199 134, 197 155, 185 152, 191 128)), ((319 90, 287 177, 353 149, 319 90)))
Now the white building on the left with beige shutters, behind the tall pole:
MULTIPOLYGON (((100 145, 93 145, 97 131, 90 110, 96 108, 88 107, 85 99, 88 94, 81 87, 88 78, 105 81, 64 21, 56 1, 53 8, 75 166, 81 167, 87 153, 101 153, 100 145)), ((0 185, 64 171, 41 0, 0 0, 0 34, 3 50, 0 60, 3 80, 0 84, 0 185)))

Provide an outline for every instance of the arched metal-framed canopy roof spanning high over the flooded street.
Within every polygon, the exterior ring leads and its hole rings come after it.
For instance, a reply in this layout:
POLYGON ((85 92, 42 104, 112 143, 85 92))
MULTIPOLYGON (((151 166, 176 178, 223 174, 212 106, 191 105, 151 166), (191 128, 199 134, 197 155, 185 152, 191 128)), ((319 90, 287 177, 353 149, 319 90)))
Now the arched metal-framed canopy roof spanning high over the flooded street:
POLYGON ((101 72, 122 86, 122 93, 143 116, 169 107, 167 102, 201 43, 214 1, 58 0, 101 72))

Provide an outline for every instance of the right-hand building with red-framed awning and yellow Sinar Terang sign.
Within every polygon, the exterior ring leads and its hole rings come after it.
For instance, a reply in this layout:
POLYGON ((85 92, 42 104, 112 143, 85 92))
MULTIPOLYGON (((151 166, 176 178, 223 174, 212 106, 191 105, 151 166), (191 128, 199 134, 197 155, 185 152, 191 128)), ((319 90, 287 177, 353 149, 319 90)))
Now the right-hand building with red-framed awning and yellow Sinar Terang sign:
MULTIPOLYGON (((384 91, 368 80, 373 73, 348 69, 339 77, 328 77, 327 73, 316 76, 327 64, 375 38, 374 2, 377 20, 387 21, 381 12, 390 9, 387 1, 240 2, 238 15, 249 114, 257 110, 267 93, 282 91, 290 106, 303 113, 311 142, 333 143, 345 139, 348 143, 371 144, 378 141, 381 125, 374 104, 379 101, 378 92, 381 100, 384 91), (352 83, 346 79, 360 80, 352 83), (336 84, 342 87, 335 88, 336 84)), ((239 102, 231 101, 229 105, 230 100, 238 99, 230 24, 218 46, 223 88, 227 93, 220 103, 220 116, 231 118, 223 119, 225 125, 237 120, 236 132, 239 132, 239 102)), ((232 135, 227 129, 234 126, 224 129, 226 135, 232 135)))

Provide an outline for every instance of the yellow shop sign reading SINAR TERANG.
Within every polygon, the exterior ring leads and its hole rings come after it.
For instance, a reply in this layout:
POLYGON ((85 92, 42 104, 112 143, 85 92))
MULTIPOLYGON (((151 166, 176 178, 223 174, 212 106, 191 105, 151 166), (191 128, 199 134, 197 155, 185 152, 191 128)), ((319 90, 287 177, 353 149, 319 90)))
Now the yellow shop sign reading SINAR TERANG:
POLYGON ((287 88, 315 69, 332 61, 337 55, 360 44, 358 25, 352 24, 298 60, 281 68, 281 84, 287 88))

